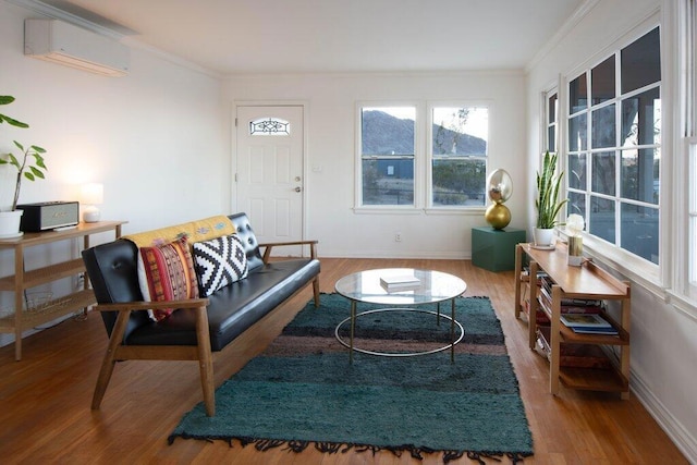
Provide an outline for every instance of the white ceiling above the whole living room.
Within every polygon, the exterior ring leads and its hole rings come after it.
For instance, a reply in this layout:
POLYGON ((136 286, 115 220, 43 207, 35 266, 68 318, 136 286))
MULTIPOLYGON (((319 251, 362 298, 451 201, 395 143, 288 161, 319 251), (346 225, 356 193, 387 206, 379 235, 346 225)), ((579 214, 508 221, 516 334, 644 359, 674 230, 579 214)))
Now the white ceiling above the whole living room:
POLYGON ((584 2, 42 0, 222 75, 524 69, 584 2))

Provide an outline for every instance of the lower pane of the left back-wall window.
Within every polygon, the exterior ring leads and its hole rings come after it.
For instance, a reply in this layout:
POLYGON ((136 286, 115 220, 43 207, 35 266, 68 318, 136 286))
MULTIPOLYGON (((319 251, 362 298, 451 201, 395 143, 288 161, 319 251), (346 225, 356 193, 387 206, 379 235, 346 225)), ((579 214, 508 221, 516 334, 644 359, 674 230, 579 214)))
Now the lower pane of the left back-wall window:
POLYGON ((414 159, 364 159, 363 205, 414 205, 414 159))

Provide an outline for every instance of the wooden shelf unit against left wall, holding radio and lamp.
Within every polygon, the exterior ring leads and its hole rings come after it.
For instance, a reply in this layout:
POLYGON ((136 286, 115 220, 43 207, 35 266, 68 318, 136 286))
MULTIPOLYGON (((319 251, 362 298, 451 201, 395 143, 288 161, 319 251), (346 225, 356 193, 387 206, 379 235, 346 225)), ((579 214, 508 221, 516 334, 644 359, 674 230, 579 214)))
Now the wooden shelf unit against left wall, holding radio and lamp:
POLYGON ((64 315, 86 309, 96 303, 95 294, 84 277, 84 289, 69 295, 41 303, 35 308, 25 308, 25 291, 63 278, 84 273, 82 257, 60 264, 26 270, 24 253, 26 248, 51 244, 59 241, 83 238, 83 247, 89 247, 90 234, 113 231, 115 238, 121 236, 121 225, 126 221, 100 221, 80 223, 77 227, 61 231, 27 232, 21 237, 0 240, 0 249, 14 252, 14 274, 0 278, 0 291, 14 293, 14 314, 0 318, 0 333, 14 333, 14 357, 22 359, 22 333, 39 325, 47 323, 64 315))

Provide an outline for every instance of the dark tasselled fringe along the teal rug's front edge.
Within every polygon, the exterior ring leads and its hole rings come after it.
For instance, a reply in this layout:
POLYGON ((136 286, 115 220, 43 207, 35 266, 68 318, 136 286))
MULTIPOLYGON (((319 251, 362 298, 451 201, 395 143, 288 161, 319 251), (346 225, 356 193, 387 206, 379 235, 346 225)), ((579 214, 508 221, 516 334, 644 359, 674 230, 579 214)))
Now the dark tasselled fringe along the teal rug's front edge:
POLYGON ((281 439, 259 439, 259 438, 246 438, 246 437, 233 437, 233 438, 210 438, 210 437, 196 437, 189 435, 171 435, 168 438, 169 445, 172 445, 174 440, 180 437, 182 439, 198 439, 205 440, 208 442, 212 442, 213 440, 224 440, 228 442, 230 448, 233 446, 233 441, 240 441, 240 444, 245 448, 249 444, 254 445, 259 452, 267 452, 272 449, 283 448, 284 451, 291 451, 295 453, 301 453, 305 451, 309 444, 314 443, 315 449, 318 452, 326 454, 335 454, 335 453, 346 453, 350 451, 354 452, 371 452, 372 455, 380 451, 390 451, 398 457, 401 457, 404 452, 408 452, 409 455, 416 460, 423 461, 424 454, 435 454, 442 452, 443 464, 448 464, 452 461, 456 461, 462 458, 465 454, 467 458, 477 462, 479 465, 486 465, 486 460, 502 462, 502 458, 506 457, 511 461, 512 465, 519 464, 524 462, 525 457, 531 456, 533 454, 521 453, 521 452, 491 452, 491 451, 437 451, 430 448, 417 448, 413 444, 403 444, 403 445, 370 445, 370 444, 354 444, 354 443, 342 443, 342 442, 316 442, 316 441, 303 441, 303 440, 281 440, 281 439))

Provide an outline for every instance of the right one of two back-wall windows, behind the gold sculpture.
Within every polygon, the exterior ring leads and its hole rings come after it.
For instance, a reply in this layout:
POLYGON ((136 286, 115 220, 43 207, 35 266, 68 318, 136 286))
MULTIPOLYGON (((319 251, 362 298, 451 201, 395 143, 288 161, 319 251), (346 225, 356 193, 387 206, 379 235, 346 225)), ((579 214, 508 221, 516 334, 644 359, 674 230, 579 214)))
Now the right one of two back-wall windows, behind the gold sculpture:
POLYGON ((431 109, 431 206, 484 206, 489 111, 431 109))

